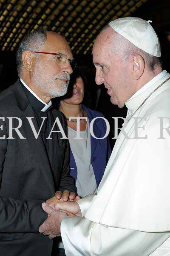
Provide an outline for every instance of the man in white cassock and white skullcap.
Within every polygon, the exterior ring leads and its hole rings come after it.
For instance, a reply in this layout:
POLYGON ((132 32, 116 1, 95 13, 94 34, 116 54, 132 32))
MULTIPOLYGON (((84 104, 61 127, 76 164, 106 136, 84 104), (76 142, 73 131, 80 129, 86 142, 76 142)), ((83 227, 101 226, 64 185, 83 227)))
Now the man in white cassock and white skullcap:
POLYGON ((55 205, 74 214, 61 222, 67 256, 170 256, 170 74, 160 56, 150 21, 117 19, 96 38, 96 83, 127 106, 127 122, 97 195, 55 205))

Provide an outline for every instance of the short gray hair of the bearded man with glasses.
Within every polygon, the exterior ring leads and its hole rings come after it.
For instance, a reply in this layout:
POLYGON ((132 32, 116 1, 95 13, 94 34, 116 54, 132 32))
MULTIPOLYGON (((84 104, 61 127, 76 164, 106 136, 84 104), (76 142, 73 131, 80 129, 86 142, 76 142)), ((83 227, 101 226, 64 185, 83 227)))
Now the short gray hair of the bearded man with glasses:
POLYGON ((16 57, 17 72, 19 77, 21 76, 21 71, 23 69, 23 61, 22 61, 23 52, 25 52, 26 50, 30 52, 38 51, 41 48, 42 44, 45 43, 46 40, 47 40, 47 31, 39 30, 39 29, 29 32, 22 39, 17 49, 17 57, 16 57))

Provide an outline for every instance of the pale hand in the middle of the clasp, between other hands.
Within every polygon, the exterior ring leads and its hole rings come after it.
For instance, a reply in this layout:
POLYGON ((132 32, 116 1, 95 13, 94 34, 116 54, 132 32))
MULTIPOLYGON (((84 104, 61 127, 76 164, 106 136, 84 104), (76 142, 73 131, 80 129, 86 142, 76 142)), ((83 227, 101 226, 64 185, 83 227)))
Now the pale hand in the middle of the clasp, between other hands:
POLYGON ((73 213, 78 217, 82 217, 82 212, 76 201, 74 202, 62 202, 54 204, 54 209, 65 212, 68 216, 68 212, 73 213))

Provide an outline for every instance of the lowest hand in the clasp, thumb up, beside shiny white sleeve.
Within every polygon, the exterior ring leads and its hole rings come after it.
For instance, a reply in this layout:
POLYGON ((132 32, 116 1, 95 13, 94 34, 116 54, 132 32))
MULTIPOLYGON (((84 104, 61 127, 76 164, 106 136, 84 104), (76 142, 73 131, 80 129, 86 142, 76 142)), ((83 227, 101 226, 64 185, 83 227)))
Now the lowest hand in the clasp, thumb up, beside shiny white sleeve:
POLYGON ((67 216, 65 212, 57 211, 48 204, 42 203, 42 209, 48 213, 48 218, 39 227, 39 232, 48 235, 50 239, 61 236, 60 226, 62 219, 67 216))

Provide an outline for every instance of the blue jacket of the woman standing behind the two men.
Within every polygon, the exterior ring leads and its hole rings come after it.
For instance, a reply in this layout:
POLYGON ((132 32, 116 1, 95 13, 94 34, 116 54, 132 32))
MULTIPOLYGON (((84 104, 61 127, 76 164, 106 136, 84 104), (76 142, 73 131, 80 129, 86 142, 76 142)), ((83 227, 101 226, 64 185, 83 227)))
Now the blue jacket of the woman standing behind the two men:
MULTIPOLYGON (((86 111, 91 123, 92 119, 95 117, 103 117, 102 113, 86 108, 85 105, 82 105, 82 108, 86 111)), ((102 138, 106 134, 106 123, 102 118, 97 118, 94 121, 93 125, 94 135, 97 138, 102 138)), ((94 169, 94 175, 96 178, 97 187, 99 186, 100 181, 102 180, 103 174, 105 172, 106 164, 108 163, 109 157, 111 156, 111 146, 108 140, 108 137, 102 140, 97 140, 91 136, 91 164, 94 169)), ((77 166, 74 159, 74 155, 70 149, 70 168, 71 176, 75 179, 75 184, 77 180, 77 166), (73 168, 73 169, 72 169, 73 168)))

